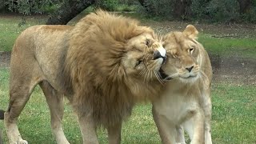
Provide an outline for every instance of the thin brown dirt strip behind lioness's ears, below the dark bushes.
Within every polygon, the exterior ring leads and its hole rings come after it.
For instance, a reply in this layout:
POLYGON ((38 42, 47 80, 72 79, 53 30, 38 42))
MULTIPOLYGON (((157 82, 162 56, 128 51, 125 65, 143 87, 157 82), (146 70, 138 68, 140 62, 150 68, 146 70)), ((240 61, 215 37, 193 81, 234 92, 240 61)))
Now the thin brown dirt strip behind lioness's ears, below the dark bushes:
POLYGON ((151 26, 154 30, 166 34, 174 30, 185 30, 187 25, 194 25, 199 33, 212 34, 213 37, 228 38, 254 38, 256 35, 256 25, 254 24, 204 24, 198 22, 142 22, 146 26, 151 26))

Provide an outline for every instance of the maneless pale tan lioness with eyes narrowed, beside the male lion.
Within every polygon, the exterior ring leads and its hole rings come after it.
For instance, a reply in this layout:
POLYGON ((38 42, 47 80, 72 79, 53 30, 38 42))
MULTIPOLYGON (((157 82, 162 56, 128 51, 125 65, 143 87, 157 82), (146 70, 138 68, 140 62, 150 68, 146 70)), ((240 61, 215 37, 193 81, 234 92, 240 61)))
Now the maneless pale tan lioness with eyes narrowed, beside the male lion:
POLYGON ((206 50, 196 41, 197 35, 198 30, 189 25, 183 32, 171 32, 163 38, 168 58, 161 74, 167 81, 166 90, 153 102, 154 121, 163 143, 185 143, 181 125, 191 143, 212 143, 212 68, 206 50))

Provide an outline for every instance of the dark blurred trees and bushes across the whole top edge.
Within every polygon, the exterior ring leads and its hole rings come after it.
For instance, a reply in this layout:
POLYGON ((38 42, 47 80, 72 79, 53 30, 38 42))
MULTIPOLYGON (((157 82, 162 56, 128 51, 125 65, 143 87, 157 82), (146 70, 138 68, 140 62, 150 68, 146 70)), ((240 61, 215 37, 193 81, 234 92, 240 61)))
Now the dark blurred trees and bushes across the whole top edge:
POLYGON ((256 22, 256 0, 0 0, 1 13, 49 14, 61 21, 48 24, 66 24, 83 10, 97 8, 136 11, 154 19, 256 22), (69 14, 70 18, 65 19, 69 14))

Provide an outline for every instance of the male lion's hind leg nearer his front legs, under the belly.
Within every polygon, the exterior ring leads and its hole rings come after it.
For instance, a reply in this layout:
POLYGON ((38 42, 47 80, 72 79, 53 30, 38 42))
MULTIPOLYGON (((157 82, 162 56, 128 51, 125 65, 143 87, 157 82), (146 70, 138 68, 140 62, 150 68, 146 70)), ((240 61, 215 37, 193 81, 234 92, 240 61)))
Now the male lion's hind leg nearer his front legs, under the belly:
POLYGON ((64 114, 64 101, 63 94, 54 90, 48 82, 40 83, 43 93, 46 96, 46 101, 50 109, 51 128, 54 133, 54 137, 58 144, 69 143, 66 140, 64 131, 62 129, 62 118, 64 114))

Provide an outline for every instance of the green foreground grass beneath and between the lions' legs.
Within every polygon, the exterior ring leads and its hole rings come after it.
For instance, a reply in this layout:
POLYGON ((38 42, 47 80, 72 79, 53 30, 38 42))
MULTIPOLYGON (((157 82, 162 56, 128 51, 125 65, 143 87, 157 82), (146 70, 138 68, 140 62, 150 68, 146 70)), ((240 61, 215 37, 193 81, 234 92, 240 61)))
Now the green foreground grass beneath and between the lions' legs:
MULTIPOLYGON (((6 109, 9 101, 9 69, 0 69, 0 109, 6 109)), ((256 87, 213 83, 212 138, 218 144, 256 142, 256 87)), ((67 103, 67 101, 66 101, 67 103)), ((50 130, 50 112, 39 87, 36 87, 18 121, 22 138, 30 143, 54 143, 50 130)), ((70 106, 66 104, 64 130, 71 143, 82 143, 78 122, 70 106)), ((0 122, 4 142, 6 130, 0 122)), ((100 143, 106 143, 106 130, 98 130, 100 143)), ((161 143, 154 125, 150 104, 138 105, 131 118, 122 127, 122 143, 161 143)))

